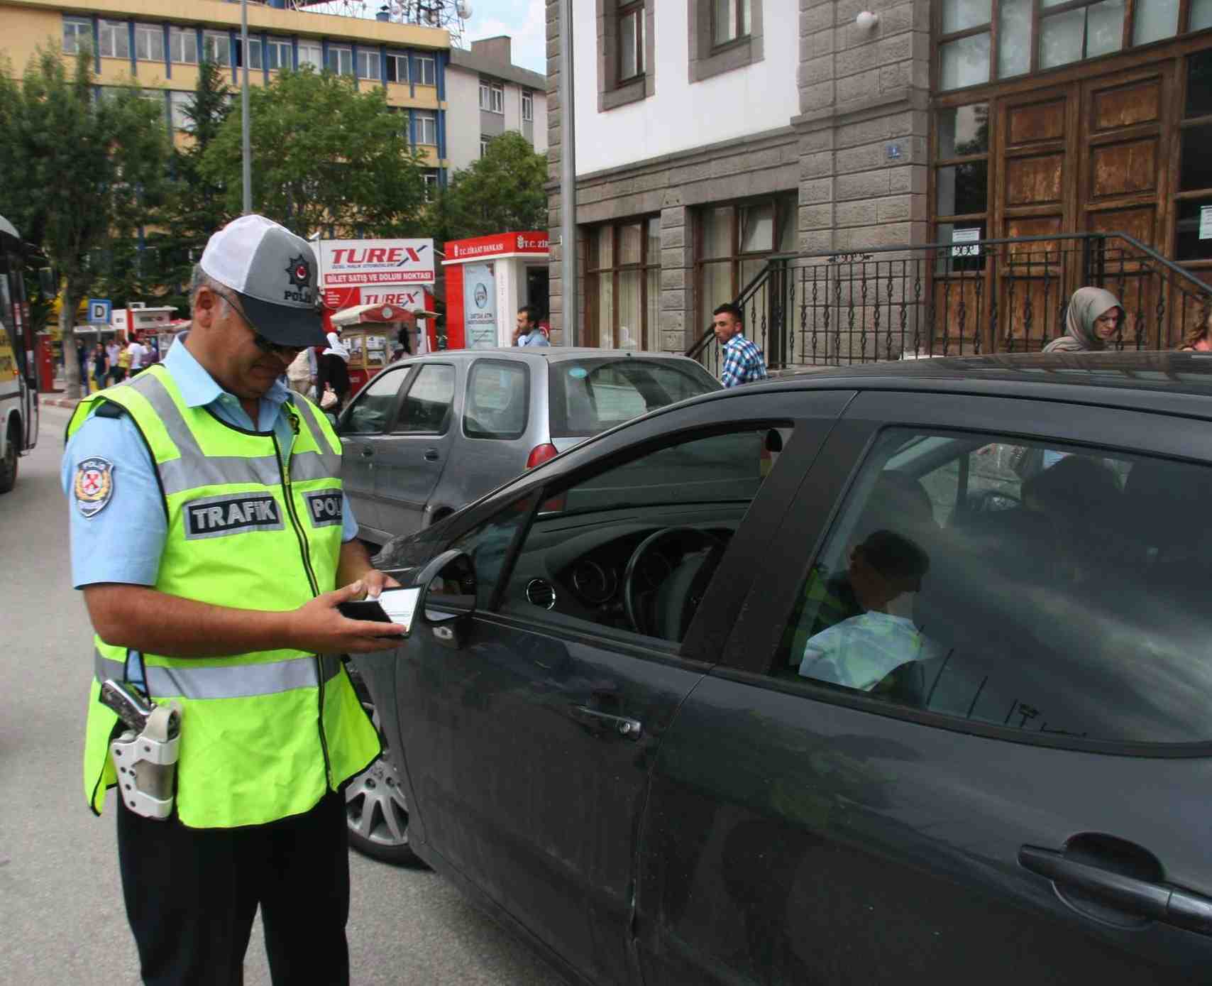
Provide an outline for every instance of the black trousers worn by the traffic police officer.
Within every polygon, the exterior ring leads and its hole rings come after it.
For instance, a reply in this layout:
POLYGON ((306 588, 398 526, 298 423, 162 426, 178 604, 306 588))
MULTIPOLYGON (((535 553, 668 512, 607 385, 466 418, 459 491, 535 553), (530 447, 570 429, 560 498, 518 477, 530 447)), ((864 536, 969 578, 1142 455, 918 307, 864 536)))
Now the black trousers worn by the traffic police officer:
POLYGON ((247 828, 187 828, 116 802, 122 895, 148 986, 240 986, 258 905, 275 986, 348 986, 343 794, 247 828))

